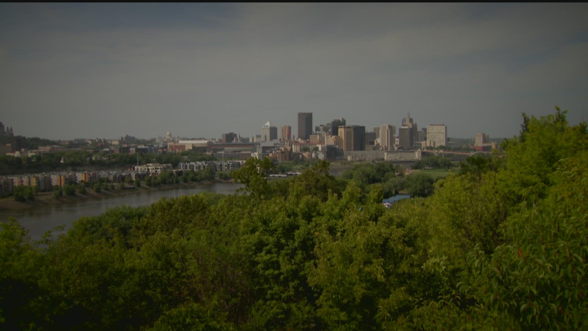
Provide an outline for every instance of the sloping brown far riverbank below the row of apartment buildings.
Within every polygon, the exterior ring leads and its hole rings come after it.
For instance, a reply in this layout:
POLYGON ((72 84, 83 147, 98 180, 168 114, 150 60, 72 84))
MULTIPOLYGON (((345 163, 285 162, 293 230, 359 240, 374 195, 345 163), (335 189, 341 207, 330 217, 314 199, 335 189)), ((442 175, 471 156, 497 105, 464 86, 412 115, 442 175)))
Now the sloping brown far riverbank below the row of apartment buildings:
MULTIPOLYGON (((75 196, 62 196, 59 198, 55 198, 53 192, 40 192, 35 194, 35 200, 32 201, 25 201, 19 202, 14 201, 13 197, 6 197, 0 198, 0 211, 22 211, 22 210, 29 210, 44 206, 51 206, 55 204, 66 204, 72 203, 76 201, 84 201, 84 200, 98 200, 103 198, 109 197, 117 197, 117 196, 125 196, 128 194, 138 193, 138 192, 146 192, 146 191, 163 191, 163 190, 173 190, 177 188, 197 188, 202 184, 214 184, 214 183, 231 183, 228 180, 220 180, 215 179, 212 181, 201 181, 198 183, 195 182, 188 182, 188 183, 179 183, 179 184, 161 184, 159 186, 146 186, 144 183, 141 183, 141 187, 139 188, 125 188, 121 190, 116 188, 115 190, 102 190, 100 193, 94 192, 91 188, 86 188, 86 193, 81 194, 77 193, 75 196)), ((117 186, 118 184, 115 184, 117 186)))

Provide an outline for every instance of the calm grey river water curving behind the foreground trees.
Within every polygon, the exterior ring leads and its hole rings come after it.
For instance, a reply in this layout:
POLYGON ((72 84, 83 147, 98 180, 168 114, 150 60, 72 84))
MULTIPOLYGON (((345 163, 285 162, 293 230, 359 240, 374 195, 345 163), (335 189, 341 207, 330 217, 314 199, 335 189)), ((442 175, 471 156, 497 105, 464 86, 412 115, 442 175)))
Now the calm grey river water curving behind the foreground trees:
POLYGON ((1 211, 0 221, 6 221, 8 217, 14 217, 22 227, 29 230, 29 236, 31 236, 32 240, 38 240, 41 239, 46 231, 53 230, 56 226, 65 225, 65 229, 61 231, 52 231, 54 236, 65 233, 71 227, 73 221, 83 216, 96 216, 102 214, 108 208, 118 206, 149 206, 162 197, 174 198, 189 194, 198 194, 205 191, 233 194, 239 187, 242 187, 242 185, 232 183, 213 183, 201 184, 198 187, 190 188, 139 191, 125 196, 108 197, 98 200, 81 200, 61 204, 51 204, 49 206, 36 207, 32 210, 1 211))

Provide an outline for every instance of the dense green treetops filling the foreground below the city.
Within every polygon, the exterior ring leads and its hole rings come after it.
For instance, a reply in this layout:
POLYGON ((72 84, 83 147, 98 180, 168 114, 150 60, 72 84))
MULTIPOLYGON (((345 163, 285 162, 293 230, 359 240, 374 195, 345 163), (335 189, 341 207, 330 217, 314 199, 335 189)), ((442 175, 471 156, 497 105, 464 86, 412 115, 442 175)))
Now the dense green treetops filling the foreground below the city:
MULTIPOLYGON (((588 132, 523 114, 492 157, 382 206, 390 164, 162 198, 33 242, 0 231, 5 329, 581 330, 588 132)), ((392 174, 393 173, 393 174, 392 174)))

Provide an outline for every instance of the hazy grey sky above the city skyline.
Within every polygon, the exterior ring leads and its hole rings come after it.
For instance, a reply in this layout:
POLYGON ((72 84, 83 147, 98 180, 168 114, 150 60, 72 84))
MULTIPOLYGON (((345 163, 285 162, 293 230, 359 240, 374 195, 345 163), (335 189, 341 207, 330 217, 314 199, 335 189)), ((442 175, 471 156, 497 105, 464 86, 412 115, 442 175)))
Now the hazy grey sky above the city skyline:
POLYGON ((588 5, 0 4, 0 121, 52 139, 588 118, 588 5), (584 109, 583 109, 584 107, 584 109))

